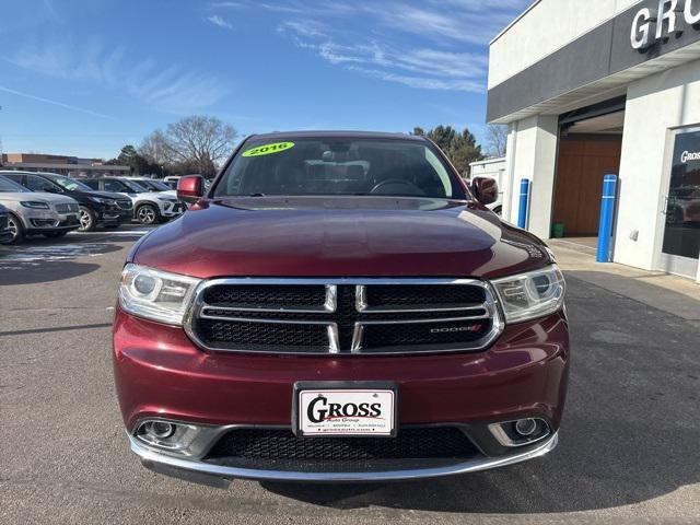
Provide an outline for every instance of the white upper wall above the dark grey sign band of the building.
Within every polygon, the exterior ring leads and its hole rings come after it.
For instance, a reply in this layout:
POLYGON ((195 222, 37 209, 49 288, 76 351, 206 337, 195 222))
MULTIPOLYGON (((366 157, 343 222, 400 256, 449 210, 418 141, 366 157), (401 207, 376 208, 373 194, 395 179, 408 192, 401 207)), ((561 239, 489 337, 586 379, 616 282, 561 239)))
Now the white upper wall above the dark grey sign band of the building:
POLYGON ((540 0, 491 44, 489 89, 551 55, 639 0, 540 0))

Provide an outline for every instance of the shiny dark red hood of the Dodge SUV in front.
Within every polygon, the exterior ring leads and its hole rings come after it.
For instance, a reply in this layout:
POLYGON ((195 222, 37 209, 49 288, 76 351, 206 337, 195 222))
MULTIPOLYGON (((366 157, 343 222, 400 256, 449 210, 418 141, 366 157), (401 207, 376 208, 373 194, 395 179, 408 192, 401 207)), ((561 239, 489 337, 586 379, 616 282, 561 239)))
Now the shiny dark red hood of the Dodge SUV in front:
POLYGON ((385 197, 207 201, 129 260, 199 278, 500 277, 551 262, 541 241, 480 205, 385 197))

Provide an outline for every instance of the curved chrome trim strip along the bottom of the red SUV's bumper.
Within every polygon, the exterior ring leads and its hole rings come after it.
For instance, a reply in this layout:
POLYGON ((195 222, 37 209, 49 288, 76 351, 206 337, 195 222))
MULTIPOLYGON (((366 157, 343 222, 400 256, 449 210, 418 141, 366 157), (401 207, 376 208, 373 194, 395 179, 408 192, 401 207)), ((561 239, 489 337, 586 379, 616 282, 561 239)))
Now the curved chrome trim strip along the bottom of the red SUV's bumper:
POLYGON ((224 467, 212 465, 172 455, 162 454, 153 448, 147 447, 132 435, 129 436, 131 452, 138 455, 141 460, 159 465, 166 465, 174 468, 189 470, 221 478, 243 478, 276 481, 400 481, 410 479, 435 478, 456 474, 478 472, 497 467, 504 467, 536 457, 544 456, 552 451, 559 441, 559 433, 552 434, 547 441, 537 447, 502 457, 482 457, 471 459, 455 465, 438 468, 421 468, 416 470, 389 470, 384 472, 295 472, 284 470, 256 470, 248 468, 224 467))

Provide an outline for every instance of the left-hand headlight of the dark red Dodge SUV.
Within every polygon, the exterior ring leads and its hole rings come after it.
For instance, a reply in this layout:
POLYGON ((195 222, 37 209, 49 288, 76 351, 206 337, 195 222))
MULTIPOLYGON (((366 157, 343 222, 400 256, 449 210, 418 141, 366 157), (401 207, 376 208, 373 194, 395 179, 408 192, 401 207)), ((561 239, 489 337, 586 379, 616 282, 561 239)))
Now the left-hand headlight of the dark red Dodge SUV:
POLYGON ((121 272, 119 304, 138 317, 182 325, 185 308, 201 281, 128 264, 121 272))

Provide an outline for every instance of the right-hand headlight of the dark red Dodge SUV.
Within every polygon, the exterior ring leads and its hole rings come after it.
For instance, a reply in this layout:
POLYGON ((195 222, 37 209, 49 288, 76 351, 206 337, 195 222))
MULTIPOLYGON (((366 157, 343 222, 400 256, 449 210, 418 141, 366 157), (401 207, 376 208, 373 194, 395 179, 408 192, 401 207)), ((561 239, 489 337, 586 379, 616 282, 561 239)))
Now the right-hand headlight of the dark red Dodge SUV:
POLYGON ((557 265, 491 282, 508 323, 521 323, 551 314, 564 302, 564 278, 557 265))

